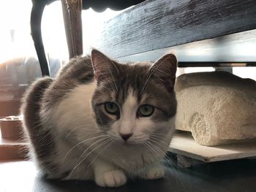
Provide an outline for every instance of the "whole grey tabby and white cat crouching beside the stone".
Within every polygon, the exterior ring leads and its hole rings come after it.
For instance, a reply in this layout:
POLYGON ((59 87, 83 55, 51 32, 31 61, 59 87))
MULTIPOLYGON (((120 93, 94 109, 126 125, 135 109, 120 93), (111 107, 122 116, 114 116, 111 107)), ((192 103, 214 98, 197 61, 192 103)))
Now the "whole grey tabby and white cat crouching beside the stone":
POLYGON ((50 179, 163 177, 176 115, 176 56, 118 63, 99 50, 77 57, 55 79, 42 77, 23 96, 23 128, 32 158, 50 179))

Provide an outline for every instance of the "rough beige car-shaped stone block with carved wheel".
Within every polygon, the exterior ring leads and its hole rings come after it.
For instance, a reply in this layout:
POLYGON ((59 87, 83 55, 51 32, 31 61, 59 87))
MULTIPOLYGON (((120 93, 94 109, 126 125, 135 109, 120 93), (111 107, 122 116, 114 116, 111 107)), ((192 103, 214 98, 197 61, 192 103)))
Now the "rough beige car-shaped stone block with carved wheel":
POLYGON ((256 139, 256 82, 228 72, 182 74, 176 80, 176 129, 200 145, 256 139))

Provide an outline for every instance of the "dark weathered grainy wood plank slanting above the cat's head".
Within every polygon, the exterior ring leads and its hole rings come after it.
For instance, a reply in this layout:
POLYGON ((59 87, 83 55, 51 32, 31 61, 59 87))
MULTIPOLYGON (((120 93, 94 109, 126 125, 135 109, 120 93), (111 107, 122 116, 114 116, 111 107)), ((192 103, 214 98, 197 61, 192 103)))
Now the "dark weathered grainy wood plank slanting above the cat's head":
POLYGON ((255 0, 145 1, 105 23, 96 47, 113 58, 256 28, 255 0))

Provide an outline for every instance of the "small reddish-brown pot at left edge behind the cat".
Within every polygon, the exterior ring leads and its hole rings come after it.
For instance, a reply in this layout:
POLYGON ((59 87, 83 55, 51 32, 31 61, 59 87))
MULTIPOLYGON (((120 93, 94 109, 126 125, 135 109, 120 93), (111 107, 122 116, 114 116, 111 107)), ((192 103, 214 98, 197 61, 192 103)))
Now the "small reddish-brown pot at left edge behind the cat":
POLYGON ((1 137, 4 139, 20 140, 23 136, 20 116, 9 116, 0 119, 1 137))

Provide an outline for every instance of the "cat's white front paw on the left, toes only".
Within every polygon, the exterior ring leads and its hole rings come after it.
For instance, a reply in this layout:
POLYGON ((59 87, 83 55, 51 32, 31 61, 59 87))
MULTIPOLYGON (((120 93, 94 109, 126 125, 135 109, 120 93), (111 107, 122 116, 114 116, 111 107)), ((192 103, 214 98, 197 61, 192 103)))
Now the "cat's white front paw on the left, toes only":
POLYGON ((96 175, 95 182, 101 187, 119 187, 127 183, 127 177, 121 170, 113 170, 96 175))

